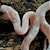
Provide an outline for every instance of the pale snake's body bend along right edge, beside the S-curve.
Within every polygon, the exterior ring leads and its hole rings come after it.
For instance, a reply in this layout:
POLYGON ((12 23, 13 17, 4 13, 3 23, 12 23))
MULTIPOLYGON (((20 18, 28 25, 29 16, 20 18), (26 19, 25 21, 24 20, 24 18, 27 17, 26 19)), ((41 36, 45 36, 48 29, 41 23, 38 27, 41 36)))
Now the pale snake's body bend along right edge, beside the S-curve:
POLYGON ((50 1, 45 2, 36 10, 36 15, 40 18, 40 29, 47 37, 49 46, 47 50, 50 50, 50 25, 45 19, 45 13, 50 10, 50 1))

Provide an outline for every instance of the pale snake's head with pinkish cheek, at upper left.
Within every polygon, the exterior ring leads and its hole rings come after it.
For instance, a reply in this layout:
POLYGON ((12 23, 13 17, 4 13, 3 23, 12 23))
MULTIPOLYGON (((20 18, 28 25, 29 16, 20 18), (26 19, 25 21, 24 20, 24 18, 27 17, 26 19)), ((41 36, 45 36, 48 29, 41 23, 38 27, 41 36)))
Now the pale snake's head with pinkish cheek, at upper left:
POLYGON ((10 21, 14 21, 16 19, 16 16, 18 15, 18 12, 11 6, 2 5, 1 10, 10 21))

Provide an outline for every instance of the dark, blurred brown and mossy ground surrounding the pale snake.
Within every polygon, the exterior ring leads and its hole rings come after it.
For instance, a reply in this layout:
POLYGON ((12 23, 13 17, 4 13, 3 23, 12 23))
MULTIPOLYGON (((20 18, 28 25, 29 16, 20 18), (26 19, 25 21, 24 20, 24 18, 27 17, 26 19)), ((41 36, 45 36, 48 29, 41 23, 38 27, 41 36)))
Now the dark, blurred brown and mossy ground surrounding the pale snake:
MULTIPOLYGON (((16 11, 18 11, 20 19, 22 20, 24 13, 30 10, 36 12, 36 9, 47 1, 48 0, 0 0, 0 7, 3 4, 13 7, 16 11)), ((50 24, 50 10, 46 12, 45 18, 46 21, 50 24)), ((11 47, 13 50, 20 50, 20 45, 27 34, 23 36, 17 35, 14 31, 11 21, 4 17, 4 13, 0 8, 0 48, 11 47)), ((47 38, 43 32, 39 30, 38 35, 30 44, 30 50, 43 50, 45 40, 48 46, 47 38)))

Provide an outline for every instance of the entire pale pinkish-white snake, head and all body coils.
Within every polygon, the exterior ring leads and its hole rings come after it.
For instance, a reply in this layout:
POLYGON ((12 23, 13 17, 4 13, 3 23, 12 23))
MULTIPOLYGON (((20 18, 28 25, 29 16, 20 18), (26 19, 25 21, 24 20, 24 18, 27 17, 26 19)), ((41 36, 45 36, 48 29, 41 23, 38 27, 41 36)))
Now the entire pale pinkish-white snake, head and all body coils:
POLYGON ((47 50, 50 50, 50 25, 45 20, 45 13, 50 9, 50 1, 42 4, 37 10, 36 13, 33 11, 28 11, 23 15, 22 26, 19 14, 12 7, 7 5, 2 5, 1 9, 5 16, 10 19, 13 23, 15 32, 19 35, 24 35, 27 33, 28 29, 30 30, 28 35, 24 38, 21 50, 29 50, 30 43, 36 37, 39 32, 39 29, 46 35, 49 46, 47 50), (30 25, 29 25, 30 19, 30 25))

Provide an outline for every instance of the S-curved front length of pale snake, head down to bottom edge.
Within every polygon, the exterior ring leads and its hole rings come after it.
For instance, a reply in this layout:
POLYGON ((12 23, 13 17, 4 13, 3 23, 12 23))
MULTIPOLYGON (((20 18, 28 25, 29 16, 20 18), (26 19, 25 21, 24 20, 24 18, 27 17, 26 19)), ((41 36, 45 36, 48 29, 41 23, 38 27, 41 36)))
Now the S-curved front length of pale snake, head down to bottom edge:
POLYGON ((21 50, 29 50, 28 47, 30 43, 36 37, 39 31, 39 19, 36 16, 36 13, 33 11, 26 12, 23 15, 22 26, 21 26, 20 17, 16 10, 14 10, 12 7, 7 5, 2 5, 1 9, 5 14, 5 16, 13 23, 14 30, 17 34, 24 35, 30 28, 28 35, 26 36, 26 38, 24 38, 21 45, 21 50), (30 25, 29 25, 29 19, 31 23, 30 25))

